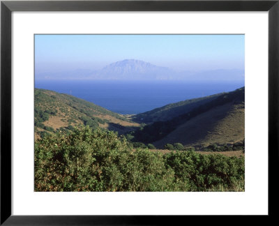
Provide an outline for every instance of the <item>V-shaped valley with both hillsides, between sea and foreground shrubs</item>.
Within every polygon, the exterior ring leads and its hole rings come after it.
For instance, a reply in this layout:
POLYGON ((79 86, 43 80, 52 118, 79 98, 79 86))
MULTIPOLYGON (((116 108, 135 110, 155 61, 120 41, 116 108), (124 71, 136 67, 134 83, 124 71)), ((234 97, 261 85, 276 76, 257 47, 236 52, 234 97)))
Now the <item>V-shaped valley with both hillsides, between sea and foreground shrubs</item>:
POLYGON ((231 151, 238 146, 243 149, 244 93, 243 87, 141 114, 121 115, 74 96, 35 89, 35 138, 89 126, 116 131, 135 148, 216 151, 220 147, 222 151, 231 151))

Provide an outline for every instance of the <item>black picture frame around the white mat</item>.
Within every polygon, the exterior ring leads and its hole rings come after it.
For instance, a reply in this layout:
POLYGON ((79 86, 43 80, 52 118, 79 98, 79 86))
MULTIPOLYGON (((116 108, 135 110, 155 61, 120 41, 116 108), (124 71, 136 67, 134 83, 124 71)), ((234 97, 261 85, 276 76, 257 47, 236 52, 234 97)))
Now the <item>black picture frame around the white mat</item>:
POLYGON ((217 1, 1 1, 1 221, 2 225, 165 225, 185 216, 11 215, 11 13, 13 11, 268 11, 269 12, 269 216, 278 191, 279 0, 217 1))

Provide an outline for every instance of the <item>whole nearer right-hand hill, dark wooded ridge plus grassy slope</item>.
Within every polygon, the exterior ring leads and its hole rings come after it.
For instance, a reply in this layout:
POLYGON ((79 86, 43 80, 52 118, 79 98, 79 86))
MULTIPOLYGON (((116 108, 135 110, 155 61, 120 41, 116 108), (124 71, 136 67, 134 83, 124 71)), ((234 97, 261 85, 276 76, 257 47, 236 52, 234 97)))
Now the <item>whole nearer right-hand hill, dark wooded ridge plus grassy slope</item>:
MULTIPOLYGON (((133 142, 153 143, 160 148, 169 142, 197 145, 202 142, 204 137, 210 137, 209 133, 211 131, 216 133, 213 139, 215 141, 238 142, 244 139, 244 94, 244 87, 229 93, 219 94, 213 99, 211 98, 211 101, 207 101, 185 114, 168 121, 156 121, 129 133, 129 135, 133 136, 133 139, 131 139, 133 142), (189 126, 186 126, 186 124, 189 126), (223 127, 220 126, 221 124, 223 127), (227 131, 229 131, 227 134, 226 125, 227 131), (184 126, 184 129, 181 129, 181 126, 184 126), (164 140, 171 133, 173 134, 170 138, 164 140), (224 136, 226 138, 221 139, 224 136), (159 140, 160 142, 157 142, 159 140)), ((211 144, 212 142, 206 139, 204 144, 206 143, 211 144)))

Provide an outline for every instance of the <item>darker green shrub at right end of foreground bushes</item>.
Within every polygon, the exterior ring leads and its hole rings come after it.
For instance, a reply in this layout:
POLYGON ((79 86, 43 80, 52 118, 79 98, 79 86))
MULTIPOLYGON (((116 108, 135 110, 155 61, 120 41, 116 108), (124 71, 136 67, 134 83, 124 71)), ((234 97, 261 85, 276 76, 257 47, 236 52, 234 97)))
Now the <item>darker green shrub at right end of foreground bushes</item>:
POLYGON ((168 167, 174 169, 176 178, 193 191, 234 188, 244 180, 244 158, 178 151, 165 154, 165 161, 168 167))

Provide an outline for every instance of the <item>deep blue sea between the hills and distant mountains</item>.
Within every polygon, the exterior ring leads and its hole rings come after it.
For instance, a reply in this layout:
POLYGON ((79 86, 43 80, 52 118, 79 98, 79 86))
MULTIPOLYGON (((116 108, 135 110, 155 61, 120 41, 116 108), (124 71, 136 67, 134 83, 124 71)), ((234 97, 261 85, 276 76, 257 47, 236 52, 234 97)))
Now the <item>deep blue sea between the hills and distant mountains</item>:
POLYGON ((35 87, 72 93, 119 114, 138 114, 181 100, 234 91, 244 82, 121 82, 36 80, 35 87))

